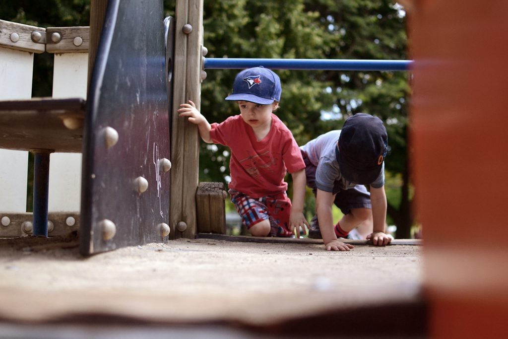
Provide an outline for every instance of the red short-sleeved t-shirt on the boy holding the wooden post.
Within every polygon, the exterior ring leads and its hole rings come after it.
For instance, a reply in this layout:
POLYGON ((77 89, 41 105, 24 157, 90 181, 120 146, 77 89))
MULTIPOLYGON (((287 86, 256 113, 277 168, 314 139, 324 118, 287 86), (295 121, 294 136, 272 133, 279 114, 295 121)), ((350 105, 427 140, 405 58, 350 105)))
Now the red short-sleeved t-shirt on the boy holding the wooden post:
POLYGON ((230 189, 252 198, 283 193, 288 189, 286 171, 294 173, 305 168, 293 134, 273 113, 270 132, 261 141, 241 115, 211 126, 212 141, 231 149, 230 189))

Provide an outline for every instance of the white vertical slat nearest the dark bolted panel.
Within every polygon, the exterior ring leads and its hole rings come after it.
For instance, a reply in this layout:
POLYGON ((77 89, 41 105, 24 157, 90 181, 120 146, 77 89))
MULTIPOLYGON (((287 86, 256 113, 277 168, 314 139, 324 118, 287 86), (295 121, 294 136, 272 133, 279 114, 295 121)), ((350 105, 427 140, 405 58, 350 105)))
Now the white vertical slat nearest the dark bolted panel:
MULTIPOLYGON (((86 98, 88 53, 55 54, 53 98, 86 98)), ((81 153, 52 153, 49 162, 51 212, 80 210, 81 153)))

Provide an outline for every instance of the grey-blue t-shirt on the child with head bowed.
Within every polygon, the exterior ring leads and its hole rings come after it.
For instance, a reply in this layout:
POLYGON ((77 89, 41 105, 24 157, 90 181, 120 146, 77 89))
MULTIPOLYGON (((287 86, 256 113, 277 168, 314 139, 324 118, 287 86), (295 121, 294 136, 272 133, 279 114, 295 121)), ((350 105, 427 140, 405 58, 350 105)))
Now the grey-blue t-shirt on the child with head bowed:
MULTIPOLYGON (((330 131, 300 147, 307 154, 312 165, 316 166, 316 187, 322 191, 333 192, 336 181, 341 190, 352 189, 357 185, 355 182, 347 181, 340 173, 339 163, 335 156, 335 147, 339 136, 340 130, 330 131)), ((381 173, 370 186, 380 188, 384 184, 385 163, 383 163, 381 173)))

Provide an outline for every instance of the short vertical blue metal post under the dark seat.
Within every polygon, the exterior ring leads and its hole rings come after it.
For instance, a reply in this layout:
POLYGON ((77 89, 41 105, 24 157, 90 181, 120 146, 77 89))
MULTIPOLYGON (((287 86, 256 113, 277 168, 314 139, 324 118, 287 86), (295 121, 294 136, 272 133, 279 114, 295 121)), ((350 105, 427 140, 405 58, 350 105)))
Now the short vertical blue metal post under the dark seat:
POLYGON ((34 235, 48 236, 49 153, 34 153, 34 235))

